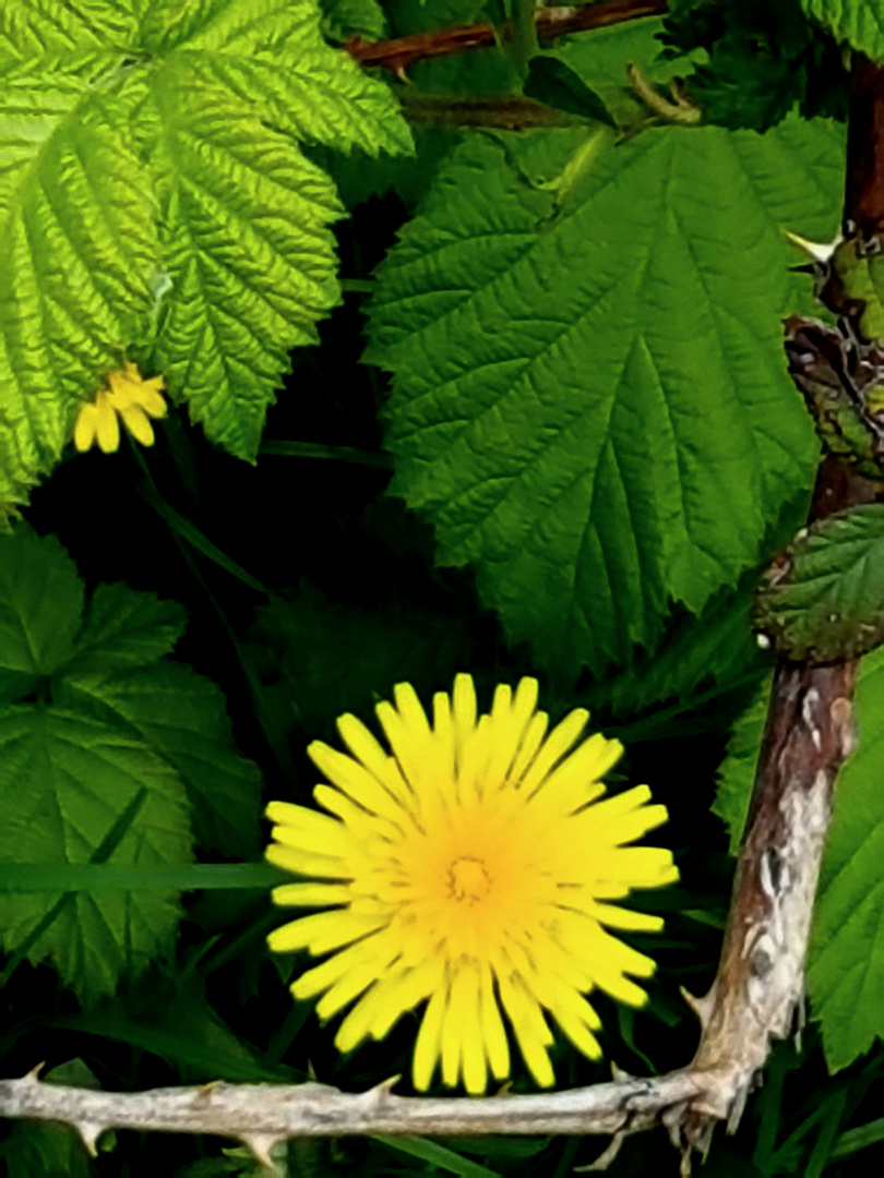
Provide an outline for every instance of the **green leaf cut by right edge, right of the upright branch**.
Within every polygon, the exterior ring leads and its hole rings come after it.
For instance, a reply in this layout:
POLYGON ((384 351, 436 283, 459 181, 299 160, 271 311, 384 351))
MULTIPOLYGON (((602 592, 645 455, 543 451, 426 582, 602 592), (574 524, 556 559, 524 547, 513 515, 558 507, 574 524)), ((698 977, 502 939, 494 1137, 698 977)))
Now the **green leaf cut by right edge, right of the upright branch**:
POLYGON ((884 650, 860 664, 856 717, 859 747, 838 777, 807 961, 831 1071, 884 1035, 884 650))

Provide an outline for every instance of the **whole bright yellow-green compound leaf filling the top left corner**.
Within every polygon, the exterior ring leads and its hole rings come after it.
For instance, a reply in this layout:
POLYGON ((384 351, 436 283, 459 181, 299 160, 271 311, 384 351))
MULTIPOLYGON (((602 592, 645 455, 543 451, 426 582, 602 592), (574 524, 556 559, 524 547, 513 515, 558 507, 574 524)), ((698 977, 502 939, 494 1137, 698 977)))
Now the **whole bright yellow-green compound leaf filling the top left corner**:
POLYGON ((316 0, 4 6, 0 524, 158 330, 171 395, 255 461, 289 351, 339 298, 342 209, 295 139, 413 150, 316 0))

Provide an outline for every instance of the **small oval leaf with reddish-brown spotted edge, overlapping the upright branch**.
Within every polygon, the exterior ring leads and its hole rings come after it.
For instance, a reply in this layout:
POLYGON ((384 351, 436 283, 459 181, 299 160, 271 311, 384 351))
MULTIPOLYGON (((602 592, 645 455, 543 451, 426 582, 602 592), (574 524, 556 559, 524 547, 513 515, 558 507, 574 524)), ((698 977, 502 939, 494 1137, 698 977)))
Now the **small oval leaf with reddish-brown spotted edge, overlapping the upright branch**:
POLYGON ((778 558, 756 622, 797 662, 857 659, 884 638, 884 504, 814 523, 778 558))

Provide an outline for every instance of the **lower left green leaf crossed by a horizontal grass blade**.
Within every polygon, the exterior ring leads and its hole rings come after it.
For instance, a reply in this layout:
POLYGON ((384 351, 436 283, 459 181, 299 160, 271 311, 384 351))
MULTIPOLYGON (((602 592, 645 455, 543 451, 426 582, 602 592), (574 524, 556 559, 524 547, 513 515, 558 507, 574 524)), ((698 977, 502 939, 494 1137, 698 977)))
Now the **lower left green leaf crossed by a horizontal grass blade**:
MULTIPOLYGON (((0 710, 0 859, 85 863, 107 839, 118 865, 186 862, 191 836, 178 774, 141 741, 55 707, 0 710), (139 801, 125 829, 120 813, 139 801)), ((100 855, 98 856, 100 858, 100 855)), ((84 1002, 112 993, 174 942, 179 908, 169 892, 0 896, 2 944, 31 961, 51 957, 84 1002), (47 912, 55 919, 28 945, 47 912)))

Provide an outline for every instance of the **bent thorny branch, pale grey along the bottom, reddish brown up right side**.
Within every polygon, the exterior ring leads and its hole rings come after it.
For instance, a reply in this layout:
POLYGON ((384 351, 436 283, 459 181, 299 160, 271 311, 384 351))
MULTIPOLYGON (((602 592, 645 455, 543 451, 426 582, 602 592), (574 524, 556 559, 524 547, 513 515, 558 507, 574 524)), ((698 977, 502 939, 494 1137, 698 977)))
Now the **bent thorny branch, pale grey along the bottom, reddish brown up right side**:
MULTIPOLYGON (((860 61, 845 231, 859 223, 867 233, 884 226, 882 161, 884 75, 860 61)), ((830 456, 820 468, 811 518, 876 494, 876 484, 830 456)), ((693 1150, 708 1146, 719 1120, 735 1129, 771 1039, 791 1033, 800 1007, 832 790, 856 741, 857 667, 856 661, 778 667, 718 974, 705 998, 690 999, 701 1031, 686 1067, 653 1079, 619 1076, 591 1088, 481 1100, 397 1097, 395 1079, 361 1094, 321 1084, 94 1092, 45 1084, 32 1072, 0 1081, 0 1114, 66 1123, 92 1150, 112 1127, 215 1133, 245 1143, 266 1165, 272 1147, 296 1136, 599 1133, 613 1138, 596 1164, 603 1167, 627 1134, 662 1124, 687 1173, 693 1150)))

